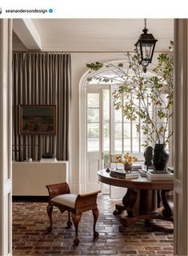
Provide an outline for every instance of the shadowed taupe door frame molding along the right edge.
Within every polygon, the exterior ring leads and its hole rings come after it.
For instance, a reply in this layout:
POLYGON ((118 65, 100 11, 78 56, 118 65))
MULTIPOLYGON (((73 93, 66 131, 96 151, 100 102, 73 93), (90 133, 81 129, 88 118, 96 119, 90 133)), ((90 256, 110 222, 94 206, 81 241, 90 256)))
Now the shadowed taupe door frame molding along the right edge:
POLYGON ((188 246, 188 19, 174 19, 174 255, 188 246))

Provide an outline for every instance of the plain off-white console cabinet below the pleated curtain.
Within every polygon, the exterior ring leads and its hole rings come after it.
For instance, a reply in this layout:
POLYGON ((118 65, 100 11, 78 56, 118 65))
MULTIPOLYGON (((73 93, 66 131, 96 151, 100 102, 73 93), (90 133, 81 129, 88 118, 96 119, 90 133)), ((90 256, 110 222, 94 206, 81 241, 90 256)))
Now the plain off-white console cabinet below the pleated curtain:
POLYGON ((69 162, 13 162, 13 195, 46 196, 46 185, 69 183, 69 162))

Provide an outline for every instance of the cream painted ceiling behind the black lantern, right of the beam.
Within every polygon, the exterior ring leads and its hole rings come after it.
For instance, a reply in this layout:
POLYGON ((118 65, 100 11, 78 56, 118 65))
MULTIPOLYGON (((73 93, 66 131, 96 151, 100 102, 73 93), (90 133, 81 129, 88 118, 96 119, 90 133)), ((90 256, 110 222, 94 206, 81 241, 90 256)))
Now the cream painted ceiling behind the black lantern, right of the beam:
MULTIPOLYGON (((144 27, 139 18, 36 18, 32 22, 44 51, 132 51, 144 27)), ((174 20, 147 19, 146 27, 158 39, 155 50, 167 50, 174 40, 174 20)))

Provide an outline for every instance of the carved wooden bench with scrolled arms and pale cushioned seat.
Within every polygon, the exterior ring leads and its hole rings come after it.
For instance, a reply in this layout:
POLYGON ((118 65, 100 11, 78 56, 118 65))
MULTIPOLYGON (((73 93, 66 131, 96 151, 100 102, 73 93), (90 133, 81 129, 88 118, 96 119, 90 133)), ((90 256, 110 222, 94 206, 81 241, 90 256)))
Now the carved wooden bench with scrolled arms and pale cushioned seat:
POLYGON ((67 226, 70 227, 70 213, 75 227, 74 245, 78 245, 78 223, 82 217, 82 212, 92 210, 94 216, 94 238, 98 238, 98 232, 95 230, 96 222, 98 220, 98 205, 97 196, 100 191, 88 194, 70 194, 69 185, 66 182, 46 186, 49 192, 50 200, 47 206, 47 213, 50 218, 50 227, 47 228, 49 232, 52 231, 52 211, 56 206, 63 213, 68 211, 67 226))

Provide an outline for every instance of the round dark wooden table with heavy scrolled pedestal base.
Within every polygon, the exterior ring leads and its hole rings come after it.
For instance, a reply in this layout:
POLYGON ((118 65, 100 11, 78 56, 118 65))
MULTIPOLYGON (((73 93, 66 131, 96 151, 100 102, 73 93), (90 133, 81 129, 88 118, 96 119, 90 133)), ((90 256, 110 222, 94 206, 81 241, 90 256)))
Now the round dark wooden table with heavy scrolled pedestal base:
POLYGON ((174 189, 174 181, 150 181, 146 177, 112 178, 106 170, 98 171, 98 180, 112 186, 126 187, 127 192, 122 198, 122 206, 116 205, 114 214, 127 211, 126 218, 121 218, 125 227, 139 219, 158 218, 173 222, 173 202, 170 201, 169 191, 174 189))

